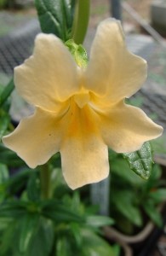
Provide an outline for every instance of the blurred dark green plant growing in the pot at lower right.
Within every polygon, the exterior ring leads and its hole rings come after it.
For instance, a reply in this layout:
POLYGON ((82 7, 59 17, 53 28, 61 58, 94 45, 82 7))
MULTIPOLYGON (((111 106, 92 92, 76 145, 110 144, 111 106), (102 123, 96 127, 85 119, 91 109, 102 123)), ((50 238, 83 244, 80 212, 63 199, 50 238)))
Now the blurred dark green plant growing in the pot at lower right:
POLYGON ((166 199, 166 180, 161 179, 162 169, 152 167, 151 176, 143 180, 131 173, 122 155, 112 159, 111 216, 118 229, 133 234, 142 229, 150 218, 157 226, 163 224, 157 207, 166 199))

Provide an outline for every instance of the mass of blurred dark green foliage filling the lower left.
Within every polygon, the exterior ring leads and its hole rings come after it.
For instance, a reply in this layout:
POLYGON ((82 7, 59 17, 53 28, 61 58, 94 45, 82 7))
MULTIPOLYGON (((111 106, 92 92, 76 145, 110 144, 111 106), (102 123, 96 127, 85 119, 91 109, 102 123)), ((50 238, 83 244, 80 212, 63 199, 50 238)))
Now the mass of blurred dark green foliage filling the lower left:
POLYGON ((100 230, 112 219, 94 215, 94 207, 85 207, 77 192, 70 195, 58 170, 51 174, 51 194, 57 196, 50 199, 42 198, 38 170, 26 168, 9 177, 1 164, 0 171, 2 256, 116 255, 100 230))

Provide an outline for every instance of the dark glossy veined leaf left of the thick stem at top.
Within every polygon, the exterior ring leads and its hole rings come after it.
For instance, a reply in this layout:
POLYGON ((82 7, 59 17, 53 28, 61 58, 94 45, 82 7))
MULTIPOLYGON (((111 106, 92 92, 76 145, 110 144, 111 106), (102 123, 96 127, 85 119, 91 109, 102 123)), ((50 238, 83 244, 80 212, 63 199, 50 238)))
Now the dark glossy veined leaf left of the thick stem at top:
POLYGON ((64 42, 71 38, 75 0, 36 0, 37 15, 44 33, 64 42))

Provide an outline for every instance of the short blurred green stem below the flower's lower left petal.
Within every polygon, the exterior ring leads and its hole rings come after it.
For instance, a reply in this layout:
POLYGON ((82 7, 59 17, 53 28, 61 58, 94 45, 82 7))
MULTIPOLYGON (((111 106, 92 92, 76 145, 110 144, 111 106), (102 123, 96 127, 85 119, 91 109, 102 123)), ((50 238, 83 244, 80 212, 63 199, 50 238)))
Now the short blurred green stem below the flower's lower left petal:
POLYGON ((49 164, 40 167, 41 196, 43 199, 50 197, 50 170, 49 164))

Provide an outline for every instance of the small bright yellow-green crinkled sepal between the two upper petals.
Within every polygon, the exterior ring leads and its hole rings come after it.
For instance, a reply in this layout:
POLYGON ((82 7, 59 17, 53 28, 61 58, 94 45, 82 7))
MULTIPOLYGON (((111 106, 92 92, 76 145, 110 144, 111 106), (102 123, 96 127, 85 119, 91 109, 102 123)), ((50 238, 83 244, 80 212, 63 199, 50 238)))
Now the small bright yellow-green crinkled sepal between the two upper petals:
POLYGON ((79 67, 87 67, 88 55, 82 44, 75 44, 73 39, 66 41, 66 47, 73 55, 79 67))

